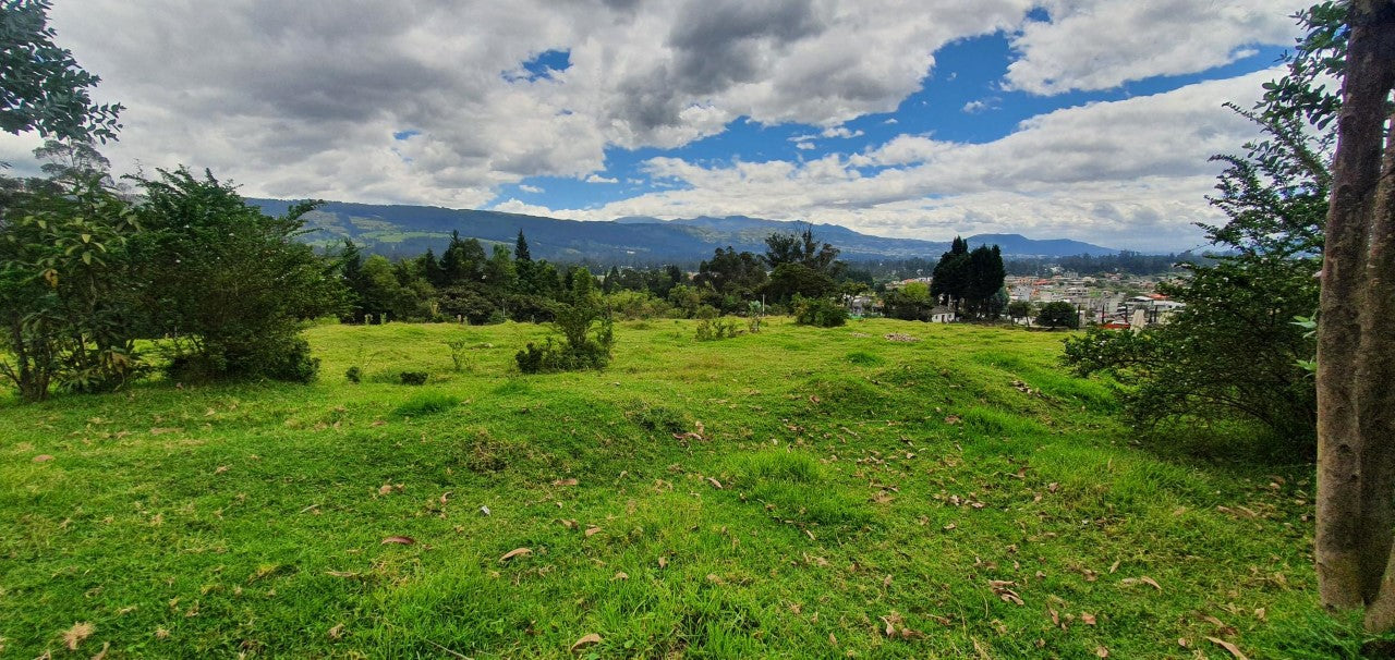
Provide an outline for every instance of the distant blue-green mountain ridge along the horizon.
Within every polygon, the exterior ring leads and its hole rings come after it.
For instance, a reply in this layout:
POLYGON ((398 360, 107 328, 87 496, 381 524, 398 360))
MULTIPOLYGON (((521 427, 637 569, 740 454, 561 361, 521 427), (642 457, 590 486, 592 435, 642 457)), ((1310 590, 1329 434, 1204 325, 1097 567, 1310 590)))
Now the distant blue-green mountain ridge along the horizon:
MULTIPOLYGON (((289 200, 247 200, 266 213, 285 213, 289 200)), ((536 258, 590 261, 600 264, 696 264, 713 250, 731 246, 738 251, 764 251, 771 232, 792 232, 795 223, 760 218, 619 218, 611 222, 580 222, 498 211, 448 209, 439 207, 326 202, 306 216, 308 230, 301 240, 332 247, 352 239, 367 253, 386 257, 417 255, 427 248, 439 253, 451 232, 484 243, 512 246, 519 230, 527 236, 536 258)), ((812 225, 815 234, 843 251, 848 261, 937 258, 949 241, 889 239, 854 232, 838 225, 812 225)), ((1034 240, 1018 234, 970 236, 971 246, 997 244, 1004 255, 1073 257, 1105 255, 1119 250, 1067 239, 1034 240)))

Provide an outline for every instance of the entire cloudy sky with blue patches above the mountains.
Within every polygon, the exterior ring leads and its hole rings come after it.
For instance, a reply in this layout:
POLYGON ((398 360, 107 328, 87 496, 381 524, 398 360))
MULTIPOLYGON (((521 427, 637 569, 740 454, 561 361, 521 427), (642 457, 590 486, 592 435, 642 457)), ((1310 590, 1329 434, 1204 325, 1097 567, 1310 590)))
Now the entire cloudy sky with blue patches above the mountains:
MULTIPOLYGON (((117 172, 248 197, 748 215, 1170 251, 1292 0, 59 0, 117 172)), ((24 173, 33 135, 0 134, 24 173)))

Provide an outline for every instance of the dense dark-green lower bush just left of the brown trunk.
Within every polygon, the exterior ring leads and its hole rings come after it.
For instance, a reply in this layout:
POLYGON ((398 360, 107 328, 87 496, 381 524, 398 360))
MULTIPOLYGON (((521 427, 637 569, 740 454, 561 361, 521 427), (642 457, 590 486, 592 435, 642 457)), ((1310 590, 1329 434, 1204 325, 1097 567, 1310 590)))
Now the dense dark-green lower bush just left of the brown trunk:
POLYGON ((1302 445, 1315 419, 1313 381, 1300 364, 1313 339, 1292 320, 1315 299, 1310 268, 1226 260, 1169 289, 1187 307, 1166 325, 1091 329, 1066 340, 1066 360, 1078 374, 1103 373, 1126 385, 1124 409, 1136 426, 1240 414, 1302 445))

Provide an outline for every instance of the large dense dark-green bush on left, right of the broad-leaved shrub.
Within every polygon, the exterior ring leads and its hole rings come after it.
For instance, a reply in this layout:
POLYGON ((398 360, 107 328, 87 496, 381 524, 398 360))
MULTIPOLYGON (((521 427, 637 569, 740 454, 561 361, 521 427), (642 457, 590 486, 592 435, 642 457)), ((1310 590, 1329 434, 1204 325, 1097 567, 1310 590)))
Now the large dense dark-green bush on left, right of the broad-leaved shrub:
POLYGON ((314 378, 300 324, 343 306, 335 264, 296 240, 314 205, 271 218, 208 172, 159 170, 137 181, 145 202, 142 232, 128 241, 135 294, 151 311, 144 332, 169 338, 170 377, 314 378))

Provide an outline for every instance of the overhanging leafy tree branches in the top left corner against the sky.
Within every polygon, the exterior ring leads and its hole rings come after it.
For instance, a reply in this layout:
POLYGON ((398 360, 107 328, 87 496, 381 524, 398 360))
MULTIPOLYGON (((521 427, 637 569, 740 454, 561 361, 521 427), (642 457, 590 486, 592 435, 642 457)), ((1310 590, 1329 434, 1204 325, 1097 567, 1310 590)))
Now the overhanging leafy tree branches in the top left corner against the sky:
POLYGON ((121 128, 120 103, 98 105, 102 78, 53 43, 49 0, 0 0, 0 130, 106 142, 121 128))

